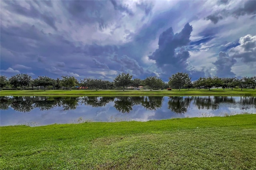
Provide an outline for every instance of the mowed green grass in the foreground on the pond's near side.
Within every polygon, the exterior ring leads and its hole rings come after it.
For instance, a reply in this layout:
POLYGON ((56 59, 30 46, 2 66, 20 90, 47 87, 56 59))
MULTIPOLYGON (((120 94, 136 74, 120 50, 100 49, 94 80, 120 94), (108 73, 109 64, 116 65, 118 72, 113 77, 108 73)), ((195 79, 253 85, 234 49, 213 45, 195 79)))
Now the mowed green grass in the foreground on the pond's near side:
POLYGON ((256 169, 256 114, 0 132, 1 169, 256 169))

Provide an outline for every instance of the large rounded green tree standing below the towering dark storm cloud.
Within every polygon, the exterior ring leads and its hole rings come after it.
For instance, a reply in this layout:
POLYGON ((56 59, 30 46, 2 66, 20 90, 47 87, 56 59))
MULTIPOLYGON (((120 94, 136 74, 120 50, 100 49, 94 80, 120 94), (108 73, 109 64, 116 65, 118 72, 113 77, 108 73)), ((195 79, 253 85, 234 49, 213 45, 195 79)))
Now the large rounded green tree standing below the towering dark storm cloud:
POLYGON ((189 79, 188 73, 178 72, 169 77, 169 84, 180 90, 180 87, 188 83, 189 79))

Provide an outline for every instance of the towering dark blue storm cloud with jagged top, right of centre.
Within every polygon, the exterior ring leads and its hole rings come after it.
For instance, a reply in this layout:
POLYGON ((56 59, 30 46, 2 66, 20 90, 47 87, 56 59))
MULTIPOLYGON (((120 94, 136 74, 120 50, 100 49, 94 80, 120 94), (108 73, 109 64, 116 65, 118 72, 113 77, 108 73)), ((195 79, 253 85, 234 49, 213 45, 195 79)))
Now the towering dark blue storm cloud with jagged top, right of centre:
POLYGON ((190 33, 192 32, 192 26, 186 24, 180 33, 174 34, 172 27, 168 28, 159 36, 158 49, 149 56, 150 59, 156 61, 159 67, 169 65, 180 69, 186 68, 186 59, 189 57, 188 51, 181 51, 176 54, 175 49, 188 45, 190 42, 190 33))

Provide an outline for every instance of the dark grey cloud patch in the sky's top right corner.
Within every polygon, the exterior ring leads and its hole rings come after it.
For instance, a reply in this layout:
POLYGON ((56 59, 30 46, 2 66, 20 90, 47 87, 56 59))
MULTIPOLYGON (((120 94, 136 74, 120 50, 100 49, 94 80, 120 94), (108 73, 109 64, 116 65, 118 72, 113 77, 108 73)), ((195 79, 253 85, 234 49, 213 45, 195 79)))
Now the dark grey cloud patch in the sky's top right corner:
POLYGON ((256 14, 256 1, 255 0, 248 0, 244 2, 243 8, 238 8, 232 13, 234 16, 243 16, 243 15, 251 15, 256 14))

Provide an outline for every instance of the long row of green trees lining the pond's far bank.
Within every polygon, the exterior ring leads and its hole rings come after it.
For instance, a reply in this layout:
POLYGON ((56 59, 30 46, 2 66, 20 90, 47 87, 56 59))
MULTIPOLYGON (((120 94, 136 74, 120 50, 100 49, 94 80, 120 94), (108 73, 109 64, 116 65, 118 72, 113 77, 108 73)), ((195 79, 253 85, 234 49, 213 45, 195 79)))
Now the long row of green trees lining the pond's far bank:
POLYGON ((242 77, 238 79, 236 77, 200 77, 196 81, 191 81, 188 73, 178 72, 169 77, 168 83, 164 83, 162 79, 156 76, 146 77, 145 79, 135 78, 132 79, 132 75, 129 73, 122 73, 115 77, 113 81, 84 78, 79 81, 73 76, 62 76, 61 79, 52 79, 47 76, 38 76, 36 79, 28 74, 16 74, 10 78, 0 75, 0 88, 13 88, 13 89, 24 89, 34 87, 43 87, 50 89, 72 89, 75 86, 86 87, 88 89, 127 89, 131 87, 143 86, 144 88, 152 89, 166 89, 168 87, 175 89, 211 89, 212 87, 222 87, 223 89, 230 88, 252 88, 256 87, 256 76, 254 77, 242 77))

